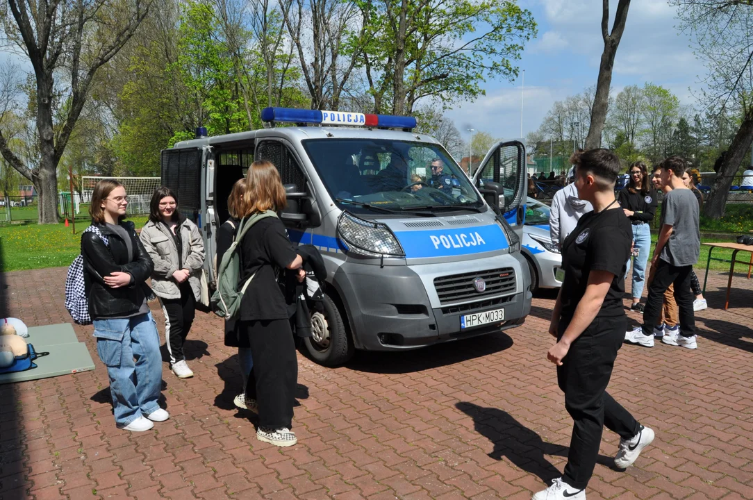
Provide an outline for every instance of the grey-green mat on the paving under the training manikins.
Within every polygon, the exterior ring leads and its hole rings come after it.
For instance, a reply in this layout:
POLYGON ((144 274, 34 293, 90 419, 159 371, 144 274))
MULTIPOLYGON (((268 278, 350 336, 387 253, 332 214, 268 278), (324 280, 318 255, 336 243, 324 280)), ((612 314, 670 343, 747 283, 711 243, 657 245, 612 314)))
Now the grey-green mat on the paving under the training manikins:
POLYGON ((0 384, 59 377, 94 369, 94 361, 85 343, 78 342, 70 323, 29 328, 26 343, 34 344, 36 352, 49 352, 36 358, 36 368, 14 373, 0 373, 0 384))

